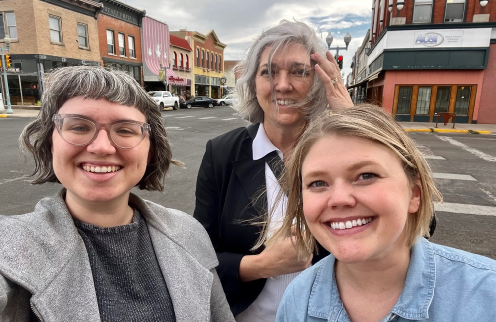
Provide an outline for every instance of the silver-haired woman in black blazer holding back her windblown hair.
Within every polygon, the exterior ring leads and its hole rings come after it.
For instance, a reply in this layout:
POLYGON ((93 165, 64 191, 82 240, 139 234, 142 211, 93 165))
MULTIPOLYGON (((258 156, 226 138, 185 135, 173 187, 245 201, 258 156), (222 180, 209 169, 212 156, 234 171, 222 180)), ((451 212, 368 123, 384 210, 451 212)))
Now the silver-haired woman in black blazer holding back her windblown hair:
POLYGON ((214 245, 217 272, 238 322, 274 321, 284 290, 319 256, 298 258, 294 238, 254 248, 267 213, 279 228, 283 165, 310 120, 353 106, 340 70, 315 31, 281 21, 256 38, 237 66, 238 106, 253 123, 208 141, 198 173, 194 217, 214 245), (279 165, 279 166, 278 166, 279 165))

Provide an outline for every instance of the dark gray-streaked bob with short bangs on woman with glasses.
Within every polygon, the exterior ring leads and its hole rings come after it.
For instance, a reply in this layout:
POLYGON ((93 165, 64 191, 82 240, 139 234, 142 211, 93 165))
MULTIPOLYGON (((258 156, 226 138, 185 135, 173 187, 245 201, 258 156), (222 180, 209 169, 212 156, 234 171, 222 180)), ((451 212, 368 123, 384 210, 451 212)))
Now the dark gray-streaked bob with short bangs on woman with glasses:
POLYGON ((28 124, 20 137, 21 150, 35 161, 32 184, 59 182, 52 164, 51 137, 54 131, 52 116, 69 99, 106 99, 137 108, 150 124, 152 158, 137 186, 146 190, 164 190, 164 177, 172 160, 165 123, 157 104, 129 74, 95 66, 75 66, 56 69, 46 80, 41 98, 40 115, 28 124))

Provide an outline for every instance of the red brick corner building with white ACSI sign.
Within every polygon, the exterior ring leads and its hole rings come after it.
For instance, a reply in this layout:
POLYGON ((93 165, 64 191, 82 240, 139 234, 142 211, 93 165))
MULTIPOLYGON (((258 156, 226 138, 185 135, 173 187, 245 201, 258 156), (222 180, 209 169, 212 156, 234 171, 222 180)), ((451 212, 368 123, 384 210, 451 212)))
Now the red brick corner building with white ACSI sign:
MULTIPOLYGON (((481 0, 373 0, 367 101, 403 121, 496 124, 496 3, 481 0)), ((363 86, 363 85, 362 85, 363 86)))

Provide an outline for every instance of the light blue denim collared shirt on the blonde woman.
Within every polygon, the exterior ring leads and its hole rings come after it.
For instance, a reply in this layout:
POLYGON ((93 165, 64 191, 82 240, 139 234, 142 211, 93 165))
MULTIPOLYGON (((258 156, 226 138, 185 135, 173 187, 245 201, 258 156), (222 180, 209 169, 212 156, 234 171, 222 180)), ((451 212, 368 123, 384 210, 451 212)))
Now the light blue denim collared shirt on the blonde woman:
MULTIPOLYGON (((286 289, 276 322, 350 322, 339 298, 331 254, 286 289)), ((405 287, 381 322, 496 322, 496 261, 420 239, 405 287)))

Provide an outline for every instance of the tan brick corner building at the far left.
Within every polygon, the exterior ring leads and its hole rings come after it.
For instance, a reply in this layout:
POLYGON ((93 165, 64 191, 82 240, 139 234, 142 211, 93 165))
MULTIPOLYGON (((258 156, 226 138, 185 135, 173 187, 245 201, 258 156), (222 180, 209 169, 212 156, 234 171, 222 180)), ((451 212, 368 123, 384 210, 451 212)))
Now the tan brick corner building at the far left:
MULTIPOLYGON (((92 0, 0 1, 0 45, 11 38, 8 87, 12 105, 37 105, 45 73, 72 65, 98 65, 97 12, 92 0)), ((2 77, 2 93, 4 84, 2 77)))

